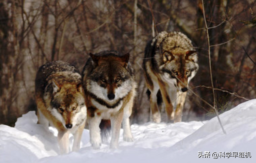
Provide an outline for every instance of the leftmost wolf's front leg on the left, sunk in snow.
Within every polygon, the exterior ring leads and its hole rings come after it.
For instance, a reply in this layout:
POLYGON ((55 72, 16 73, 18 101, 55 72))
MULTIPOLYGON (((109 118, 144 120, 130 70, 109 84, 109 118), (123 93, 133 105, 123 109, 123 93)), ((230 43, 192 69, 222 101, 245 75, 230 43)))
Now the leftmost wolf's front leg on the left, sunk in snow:
POLYGON ((58 142, 60 147, 60 153, 66 154, 69 152, 69 132, 58 131, 58 142))

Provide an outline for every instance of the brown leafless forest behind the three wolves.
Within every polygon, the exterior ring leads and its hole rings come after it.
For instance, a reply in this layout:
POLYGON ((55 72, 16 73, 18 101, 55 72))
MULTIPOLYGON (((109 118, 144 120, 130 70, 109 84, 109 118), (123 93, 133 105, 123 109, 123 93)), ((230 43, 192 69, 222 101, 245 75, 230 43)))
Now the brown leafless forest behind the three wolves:
POLYGON ((161 31, 183 32, 199 55, 200 69, 190 82, 183 121, 215 116, 204 100, 221 113, 255 98, 256 1, 203 2, 0 0, 0 124, 13 126, 22 114, 36 110, 34 80, 41 65, 63 60, 81 71, 89 53, 103 50, 130 54, 138 83, 130 119, 150 121, 142 62, 146 43, 161 31))

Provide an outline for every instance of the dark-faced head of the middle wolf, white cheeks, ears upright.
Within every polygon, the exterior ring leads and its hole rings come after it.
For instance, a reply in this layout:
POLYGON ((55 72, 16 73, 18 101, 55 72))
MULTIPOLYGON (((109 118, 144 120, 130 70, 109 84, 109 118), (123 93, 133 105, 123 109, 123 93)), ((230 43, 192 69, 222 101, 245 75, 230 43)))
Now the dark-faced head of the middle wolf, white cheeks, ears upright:
POLYGON ((133 78, 129 54, 120 56, 108 53, 101 56, 90 54, 93 69, 86 77, 86 90, 113 104, 130 92, 133 78))

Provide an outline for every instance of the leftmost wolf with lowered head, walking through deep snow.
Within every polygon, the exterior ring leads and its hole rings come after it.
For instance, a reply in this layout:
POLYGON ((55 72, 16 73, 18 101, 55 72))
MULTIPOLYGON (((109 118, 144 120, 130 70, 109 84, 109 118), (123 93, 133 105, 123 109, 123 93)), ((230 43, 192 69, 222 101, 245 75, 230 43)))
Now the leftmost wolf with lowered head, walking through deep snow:
POLYGON ((42 65, 35 80, 38 123, 58 130, 60 153, 69 152, 69 133, 74 135, 72 150, 80 149, 87 117, 82 76, 78 69, 63 61, 42 65))

